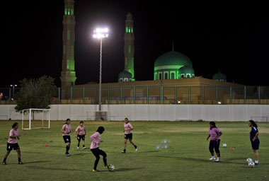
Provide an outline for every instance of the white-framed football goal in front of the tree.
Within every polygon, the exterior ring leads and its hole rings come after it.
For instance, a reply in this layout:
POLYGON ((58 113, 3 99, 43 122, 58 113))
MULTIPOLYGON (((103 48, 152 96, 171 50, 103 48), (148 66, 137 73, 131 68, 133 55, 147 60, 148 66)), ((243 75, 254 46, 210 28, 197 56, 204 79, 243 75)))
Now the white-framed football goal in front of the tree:
POLYGON ((21 112, 22 129, 50 129, 50 109, 27 109, 21 112))

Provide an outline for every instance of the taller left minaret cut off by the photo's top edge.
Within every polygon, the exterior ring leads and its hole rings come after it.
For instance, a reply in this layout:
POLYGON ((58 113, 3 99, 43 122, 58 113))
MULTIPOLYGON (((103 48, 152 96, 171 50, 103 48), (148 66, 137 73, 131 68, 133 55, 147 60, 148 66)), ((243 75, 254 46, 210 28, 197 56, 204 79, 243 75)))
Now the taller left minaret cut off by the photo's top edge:
POLYGON ((74 60, 74 42, 75 42, 75 16, 74 0, 64 0, 64 19, 62 25, 62 88, 75 85, 76 71, 74 60))

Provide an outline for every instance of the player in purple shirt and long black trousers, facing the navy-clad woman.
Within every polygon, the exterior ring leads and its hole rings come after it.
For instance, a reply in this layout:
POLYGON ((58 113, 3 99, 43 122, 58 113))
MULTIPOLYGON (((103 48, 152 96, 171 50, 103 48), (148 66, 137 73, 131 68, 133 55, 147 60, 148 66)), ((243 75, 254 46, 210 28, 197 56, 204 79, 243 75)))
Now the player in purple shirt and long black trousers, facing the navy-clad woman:
POLYGON ((219 136, 222 136, 222 132, 216 127, 216 124, 214 122, 210 122, 210 134, 207 136, 207 141, 211 137, 210 140, 210 153, 211 158, 210 160, 215 160, 214 151, 217 153, 217 160, 215 162, 220 161, 220 152, 219 152, 219 143, 220 138, 219 136))

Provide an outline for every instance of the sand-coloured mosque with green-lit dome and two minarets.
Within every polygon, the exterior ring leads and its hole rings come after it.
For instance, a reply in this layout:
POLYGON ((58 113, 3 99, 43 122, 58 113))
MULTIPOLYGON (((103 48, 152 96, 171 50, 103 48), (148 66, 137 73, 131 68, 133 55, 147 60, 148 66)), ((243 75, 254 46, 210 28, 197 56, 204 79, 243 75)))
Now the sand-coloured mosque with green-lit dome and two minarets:
MULTIPOLYGON (((83 100, 83 103, 86 103, 87 101, 88 103, 96 103, 96 95, 98 92, 96 90, 98 89, 98 84, 91 83, 76 85, 75 83, 76 71, 74 67, 74 26, 76 22, 74 16, 74 0, 64 0, 64 3, 64 17, 62 21, 63 59, 62 74, 60 77, 63 91, 62 101, 64 101, 64 99, 69 99, 69 91, 71 88, 73 90, 72 99, 77 100, 77 103, 81 103, 82 95, 81 93, 75 93, 74 90, 79 89, 84 89, 83 97, 86 97, 86 100, 83 100), (85 89, 95 91, 85 91, 85 89)), ((202 96, 206 97, 207 100, 214 100, 213 102, 216 103, 216 98, 213 98, 213 95, 216 94, 216 87, 225 88, 224 93, 222 93, 222 103, 229 103, 231 100, 229 88, 244 88, 244 85, 227 82, 227 77, 220 71, 212 75, 212 79, 195 76, 195 70, 193 69, 193 63, 191 60, 185 54, 176 52, 173 48, 171 52, 161 54, 156 59, 154 63, 154 72, 152 74, 153 80, 135 81, 135 29, 131 13, 127 13, 125 28, 122 27, 122 30, 125 30, 125 69, 118 74, 118 82, 102 83, 102 103, 122 103, 122 100, 117 99, 118 97, 122 96, 127 99, 130 97, 138 97, 141 99, 141 103, 150 103, 151 100, 153 101, 161 99, 161 97, 164 95, 165 100, 167 100, 166 103, 184 103, 185 99, 188 100, 188 103, 191 101, 193 101, 193 103, 205 103, 202 102, 202 96), (205 91, 205 87, 207 87, 207 91, 205 91), (208 87, 214 88, 210 89, 208 87), (105 91, 105 95, 108 94, 108 96, 105 96, 104 98, 103 89, 107 90, 105 91), (211 96, 213 97, 210 98, 211 96), (146 97, 147 101, 143 102, 143 98, 146 97), (115 100, 114 102, 113 99, 115 100)), ((153 101, 152 103, 160 102, 153 101)))

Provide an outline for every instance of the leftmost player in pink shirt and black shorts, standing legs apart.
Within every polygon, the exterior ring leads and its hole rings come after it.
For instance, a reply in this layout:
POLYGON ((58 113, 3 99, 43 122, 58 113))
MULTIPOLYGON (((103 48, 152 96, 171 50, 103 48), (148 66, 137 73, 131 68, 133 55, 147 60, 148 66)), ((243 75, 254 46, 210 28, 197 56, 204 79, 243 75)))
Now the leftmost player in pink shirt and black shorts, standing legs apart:
POLYGON ((23 164, 23 162, 21 161, 21 149, 20 146, 18 146, 18 141, 17 139, 20 139, 20 133, 18 132, 18 123, 15 122, 12 125, 12 129, 9 132, 9 136, 8 136, 8 143, 6 146, 6 155, 4 157, 3 160, 3 165, 6 165, 6 158, 8 158, 9 153, 11 153, 11 150, 16 150, 18 153, 18 164, 23 164))

